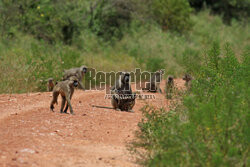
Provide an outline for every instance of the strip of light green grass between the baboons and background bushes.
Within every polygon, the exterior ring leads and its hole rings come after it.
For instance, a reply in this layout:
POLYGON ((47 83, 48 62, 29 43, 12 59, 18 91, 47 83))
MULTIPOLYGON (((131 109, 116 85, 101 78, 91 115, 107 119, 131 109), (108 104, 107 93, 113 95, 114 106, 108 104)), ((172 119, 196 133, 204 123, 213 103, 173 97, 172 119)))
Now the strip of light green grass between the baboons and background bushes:
POLYGON ((0 40, 0 93, 44 91, 47 78, 58 80, 63 69, 82 64, 102 71, 165 68, 166 75, 181 76, 200 68, 203 53, 214 40, 229 43, 237 58, 249 45, 249 24, 233 21, 227 26, 209 11, 192 15, 191 20, 193 28, 183 35, 163 32, 157 24, 131 23, 122 40, 107 43, 86 30, 72 46, 47 44, 15 32, 14 38, 0 40))

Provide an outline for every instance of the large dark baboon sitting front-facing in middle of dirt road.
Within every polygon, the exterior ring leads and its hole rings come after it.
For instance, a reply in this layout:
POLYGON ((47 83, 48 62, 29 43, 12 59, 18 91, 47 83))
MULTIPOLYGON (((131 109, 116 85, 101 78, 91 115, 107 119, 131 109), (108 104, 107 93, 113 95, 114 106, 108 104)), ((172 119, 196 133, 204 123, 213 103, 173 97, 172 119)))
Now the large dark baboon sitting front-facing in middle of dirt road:
POLYGON ((121 72, 119 79, 110 89, 112 98, 111 104, 116 110, 134 112, 132 109, 135 105, 135 93, 132 93, 129 83, 130 74, 121 72))

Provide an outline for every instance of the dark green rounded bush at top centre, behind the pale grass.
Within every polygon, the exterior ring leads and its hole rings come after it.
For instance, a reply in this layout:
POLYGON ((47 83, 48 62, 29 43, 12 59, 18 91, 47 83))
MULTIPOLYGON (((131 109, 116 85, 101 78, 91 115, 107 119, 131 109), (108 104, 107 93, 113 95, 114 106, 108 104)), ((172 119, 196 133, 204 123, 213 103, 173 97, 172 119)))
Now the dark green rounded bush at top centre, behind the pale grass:
POLYGON ((127 0, 97 2, 91 7, 89 27, 105 40, 121 39, 131 22, 132 4, 127 0))

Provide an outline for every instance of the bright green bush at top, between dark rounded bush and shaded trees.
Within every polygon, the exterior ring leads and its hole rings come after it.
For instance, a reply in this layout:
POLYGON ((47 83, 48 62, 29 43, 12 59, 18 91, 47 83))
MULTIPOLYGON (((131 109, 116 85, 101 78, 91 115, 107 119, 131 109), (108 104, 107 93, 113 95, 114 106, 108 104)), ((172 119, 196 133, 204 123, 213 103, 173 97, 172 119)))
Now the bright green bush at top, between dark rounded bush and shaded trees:
POLYGON ((185 32, 192 26, 187 0, 133 0, 133 16, 141 23, 156 22, 166 31, 185 32))

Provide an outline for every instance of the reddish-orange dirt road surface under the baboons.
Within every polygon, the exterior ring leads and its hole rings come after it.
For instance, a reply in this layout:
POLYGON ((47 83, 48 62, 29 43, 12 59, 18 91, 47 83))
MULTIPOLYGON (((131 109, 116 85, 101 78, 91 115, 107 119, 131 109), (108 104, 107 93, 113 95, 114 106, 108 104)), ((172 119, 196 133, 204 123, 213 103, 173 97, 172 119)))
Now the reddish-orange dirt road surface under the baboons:
MULTIPOLYGON (((181 79, 176 83, 183 88, 181 79)), ((135 112, 129 113, 93 108, 111 107, 104 91, 77 90, 75 115, 60 114, 60 105, 51 112, 51 92, 0 95, 0 166, 138 166, 126 145, 138 128, 140 109, 146 103, 166 108, 170 103, 154 95, 153 100, 136 100, 135 112)))

